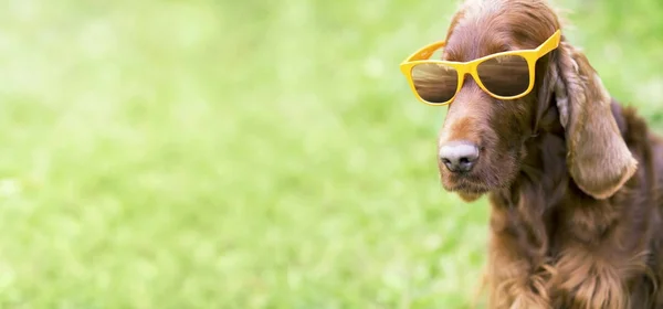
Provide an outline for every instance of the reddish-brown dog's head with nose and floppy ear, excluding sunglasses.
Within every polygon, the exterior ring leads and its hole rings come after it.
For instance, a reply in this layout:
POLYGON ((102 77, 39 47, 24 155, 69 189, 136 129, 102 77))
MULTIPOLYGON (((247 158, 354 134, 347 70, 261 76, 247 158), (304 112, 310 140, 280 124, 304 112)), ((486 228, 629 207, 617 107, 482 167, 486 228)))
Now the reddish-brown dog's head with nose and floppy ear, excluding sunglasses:
MULTIPOLYGON (((467 1, 452 20, 443 60, 536 49, 559 29, 543 0, 467 1)), ((610 196, 634 173, 636 162, 611 114, 610 95, 582 53, 562 36, 537 61, 535 77, 526 96, 502 100, 465 76, 439 137, 446 190, 472 201, 513 183, 527 154, 525 143, 550 107, 565 130, 569 173, 587 194, 610 196)))

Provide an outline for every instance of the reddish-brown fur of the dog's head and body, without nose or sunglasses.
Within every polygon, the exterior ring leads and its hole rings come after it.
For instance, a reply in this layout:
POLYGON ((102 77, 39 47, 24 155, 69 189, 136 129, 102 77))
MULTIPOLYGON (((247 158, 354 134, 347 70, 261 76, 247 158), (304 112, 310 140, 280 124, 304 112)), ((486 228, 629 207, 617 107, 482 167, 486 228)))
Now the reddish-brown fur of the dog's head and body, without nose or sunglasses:
MULTIPOLYGON (((534 49, 560 26, 544 0, 471 1, 443 57, 534 49)), ((439 138, 480 146, 471 173, 439 168, 465 201, 490 196, 490 307, 663 308, 663 142, 564 36, 536 74, 516 100, 466 78, 439 138)))

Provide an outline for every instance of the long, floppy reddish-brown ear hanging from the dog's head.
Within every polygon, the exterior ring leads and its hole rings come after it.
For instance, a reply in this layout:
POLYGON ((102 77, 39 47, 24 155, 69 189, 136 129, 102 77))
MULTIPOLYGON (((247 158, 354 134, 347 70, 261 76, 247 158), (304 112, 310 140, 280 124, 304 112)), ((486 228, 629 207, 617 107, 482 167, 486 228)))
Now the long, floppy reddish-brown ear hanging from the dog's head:
POLYGON ((610 198, 638 168, 612 116, 610 94, 585 54, 565 41, 546 79, 541 93, 555 96, 571 177, 585 193, 610 198))

